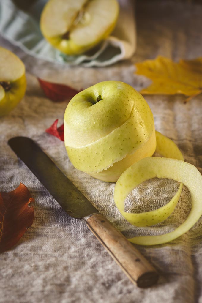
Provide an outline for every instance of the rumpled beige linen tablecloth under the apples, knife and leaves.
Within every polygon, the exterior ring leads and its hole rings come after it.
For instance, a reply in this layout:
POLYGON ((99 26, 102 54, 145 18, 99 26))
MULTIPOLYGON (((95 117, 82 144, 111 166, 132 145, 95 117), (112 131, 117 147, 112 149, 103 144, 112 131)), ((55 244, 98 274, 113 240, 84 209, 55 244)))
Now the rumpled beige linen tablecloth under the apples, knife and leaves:
MULTIPOLYGON (((173 214, 160 226, 131 227, 114 205, 114 183, 77 171, 68 160, 64 142, 47 133, 56 118, 63 123, 67 102, 54 103, 39 87, 37 76, 87 88, 104 80, 120 80, 140 90, 150 80, 134 75, 134 63, 157 55, 177 61, 201 55, 202 6, 187 2, 139 1, 136 4, 137 51, 131 60, 105 68, 67 68, 26 55, 1 38, 1 45, 22 58, 27 69, 27 92, 22 102, 0 118, 0 191, 24 183, 35 198, 35 219, 13 248, 0 254, 1 303, 202 303, 202 218, 180 238, 151 247, 137 246, 157 268, 157 285, 140 289, 124 275, 84 221, 65 214, 29 169, 7 145, 9 138, 33 138, 82 193, 126 236, 160 234, 180 225, 190 211, 183 187, 173 214)), ((171 138, 185 161, 202 172, 202 96, 186 105, 184 96, 145 96, 156 129, 171 138)), ((139 209, 163 205, 177 190, 169 180, 148 181, 134 190, 139 209), (150 205, 150 206, 149 206, 150 205)), ((148 209, 149 210, 149 209, 148 209)))

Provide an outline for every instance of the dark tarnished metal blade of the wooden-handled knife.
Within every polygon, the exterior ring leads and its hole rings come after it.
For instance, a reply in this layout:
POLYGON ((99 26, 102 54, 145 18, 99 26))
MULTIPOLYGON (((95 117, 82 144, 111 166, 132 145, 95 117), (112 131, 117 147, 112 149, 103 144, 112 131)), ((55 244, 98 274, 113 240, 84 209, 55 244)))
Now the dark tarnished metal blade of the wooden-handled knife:
POLYGON ((68 215, 83 218, 98 212, 33 140, 14 137, 8 144, 68 215))

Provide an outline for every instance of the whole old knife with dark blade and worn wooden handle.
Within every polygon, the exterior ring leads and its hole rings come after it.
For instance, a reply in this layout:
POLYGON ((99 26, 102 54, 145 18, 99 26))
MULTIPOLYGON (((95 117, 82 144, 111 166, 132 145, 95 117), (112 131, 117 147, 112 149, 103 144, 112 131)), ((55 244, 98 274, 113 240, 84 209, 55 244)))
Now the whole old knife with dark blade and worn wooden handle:
POLYGON ((14 137, 8 144, 28 166, 68 215, 83 218, 88 228, 138 287, 158 280, 157 271, 143 255, 104 217, 30 138, 14 137))

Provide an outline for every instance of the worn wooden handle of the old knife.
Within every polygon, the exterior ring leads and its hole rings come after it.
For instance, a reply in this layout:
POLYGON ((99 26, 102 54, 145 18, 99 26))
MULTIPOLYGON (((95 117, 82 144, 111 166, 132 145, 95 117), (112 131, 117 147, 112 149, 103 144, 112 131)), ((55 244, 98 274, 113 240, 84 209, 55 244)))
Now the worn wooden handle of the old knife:
POLYGON ((147 288, 157 282, 158 274, 154 267, 104 215, 96 213, 85 217, 84 220, 135 285, 147 288))

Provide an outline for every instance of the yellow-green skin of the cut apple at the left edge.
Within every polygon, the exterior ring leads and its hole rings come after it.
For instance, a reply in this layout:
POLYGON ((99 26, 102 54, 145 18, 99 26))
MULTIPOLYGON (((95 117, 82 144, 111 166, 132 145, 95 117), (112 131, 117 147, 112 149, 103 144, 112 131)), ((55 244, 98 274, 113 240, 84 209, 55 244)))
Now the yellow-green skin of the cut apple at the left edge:
POLYGON ((20 79, 10 82, 10 90, 5 92, 3 88, 0 89, 0 116, 7 115, 15 108, 22 100, 26 91, 26 77, 22 75, 20 79))

